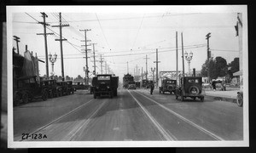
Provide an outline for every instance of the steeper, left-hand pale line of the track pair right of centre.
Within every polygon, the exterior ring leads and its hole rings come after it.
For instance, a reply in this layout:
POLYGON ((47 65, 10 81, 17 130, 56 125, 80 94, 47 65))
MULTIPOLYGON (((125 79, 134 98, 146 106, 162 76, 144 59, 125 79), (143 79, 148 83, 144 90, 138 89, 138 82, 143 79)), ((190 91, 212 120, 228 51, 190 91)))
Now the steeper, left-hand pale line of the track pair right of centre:
MULTIPOLYGON (((131 94, 131 92, 128 90, 128 93, 131 94)), ((173 135, 171 136, 169 133, 166 132, 166 130, 160 126, 160 123, 157 122, 153 116, 151 116, 151 114, 144 108, 144 106, 131 94, 131 97, 133 99, 135 99, 135 101, 137 102, 138 105, 140 105, 140 107, 142 108, 142 110, 146 113, 146 115, 149 117, 149 119, 151 120, 151 122, 154 123, 154 126, 158 128, 158 130, 160 131, 160 133, 165 137, 166 140, 177 140, 176 137, 174 137, 173 135)))

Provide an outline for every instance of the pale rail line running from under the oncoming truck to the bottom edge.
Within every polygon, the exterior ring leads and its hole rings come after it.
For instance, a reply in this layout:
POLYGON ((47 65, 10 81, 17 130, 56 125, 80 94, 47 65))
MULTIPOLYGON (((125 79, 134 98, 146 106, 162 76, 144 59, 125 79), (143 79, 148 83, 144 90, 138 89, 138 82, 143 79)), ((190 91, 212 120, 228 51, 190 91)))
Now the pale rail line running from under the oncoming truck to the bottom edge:
MULTIPOLYGON (((68 140, 73 140, 76 136, 77 133, 79 133, 79 131, 81 130, 82 127, 86 127, 87 124, 90 122, 91 118, 96 116, 97 112, 100 111, 102 109, 102 106, 105 105, 106 101, 104 101, 102 103, 102 105, 100 105, 96 111, 92 111, 92 113, 90 114, 90 116, 88 117, 88 119, 85 122, 82 122, 82 125, 79 124, 79 126, 76 126, 77 128, 73 129, 70 133, 72 133, 72 135, 68 138, 68 140)), ((65 139, 64 139, 65 140, 65 139)))

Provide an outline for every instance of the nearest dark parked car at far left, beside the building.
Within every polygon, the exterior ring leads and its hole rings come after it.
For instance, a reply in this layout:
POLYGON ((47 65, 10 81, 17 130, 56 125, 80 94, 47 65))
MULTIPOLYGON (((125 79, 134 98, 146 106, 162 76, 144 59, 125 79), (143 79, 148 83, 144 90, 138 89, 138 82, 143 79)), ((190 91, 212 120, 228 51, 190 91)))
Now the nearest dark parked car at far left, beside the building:
POLYGON ((32 99, 48 99, 46 89, 40 86, 36 76, 20 77, 14 83, 14 105, 20 105, 20 101, 28 103, 32 99))

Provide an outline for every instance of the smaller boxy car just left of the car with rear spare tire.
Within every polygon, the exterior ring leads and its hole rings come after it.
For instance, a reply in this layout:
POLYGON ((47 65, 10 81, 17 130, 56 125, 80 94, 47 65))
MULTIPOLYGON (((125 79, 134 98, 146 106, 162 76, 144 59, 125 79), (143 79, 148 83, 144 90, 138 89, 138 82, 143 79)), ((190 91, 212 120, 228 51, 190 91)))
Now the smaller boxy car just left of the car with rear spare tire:
POLYGON ((159 94, 163 93, 165 94, 166 92, 169 92, 170 94, 175 94, 176 90, 176 80, 172 79, 163 79, 159 81, 159 94))

